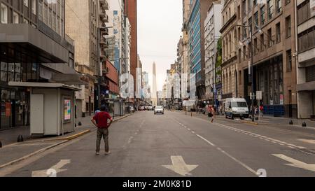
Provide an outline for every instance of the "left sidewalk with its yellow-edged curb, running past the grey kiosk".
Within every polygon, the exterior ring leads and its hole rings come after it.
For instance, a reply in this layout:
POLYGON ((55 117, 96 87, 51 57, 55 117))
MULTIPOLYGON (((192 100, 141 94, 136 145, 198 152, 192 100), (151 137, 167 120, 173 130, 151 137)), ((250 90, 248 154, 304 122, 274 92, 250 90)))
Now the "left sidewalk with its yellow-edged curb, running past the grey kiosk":
MULTIPOLYGON (((127 118, 128 116, 130 116, 130 114, 115 117, 113 122, 127 118)), ((75 132, 64 134, 64 136, 46 136, 40 139, 31 139, 30 136, 23 136, 25 142, 22 143, 15 143, 18 134, 29 134, 29 127, 8 129, 0 132, 0 139, 6 140, 6 145, 0 148, 0 169, 97 129, 92 125, 90 117, 76 119, 76 125, 75 132), (81 122, 82 126, 78 126, 78 122, 81 122)))

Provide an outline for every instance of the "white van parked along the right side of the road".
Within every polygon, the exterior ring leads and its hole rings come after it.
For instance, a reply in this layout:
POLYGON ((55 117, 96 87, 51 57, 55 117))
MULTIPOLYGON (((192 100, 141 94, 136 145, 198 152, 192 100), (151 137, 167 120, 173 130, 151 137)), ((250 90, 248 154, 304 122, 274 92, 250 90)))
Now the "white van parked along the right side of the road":
POLYGON ((235 117, 249 118, 249 111, 246 100, 244 98, 228 98, 225 99, 225 118, 235 117))

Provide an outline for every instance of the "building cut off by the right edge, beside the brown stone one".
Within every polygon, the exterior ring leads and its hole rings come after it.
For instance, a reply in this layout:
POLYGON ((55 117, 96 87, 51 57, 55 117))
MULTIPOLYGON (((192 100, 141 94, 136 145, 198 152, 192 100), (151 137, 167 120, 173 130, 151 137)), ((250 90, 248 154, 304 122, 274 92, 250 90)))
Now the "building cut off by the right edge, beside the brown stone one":
MULTIPOLYGON (((315 9, 311 1, 297 1, 295 4, 297 13, 297 54, 291 52, 287 56, 288 70, 294 68, 294 55, 297 55, 297 117, 315 118, 315 9)), ((314 2, 314 1, 313 1, 314 2)), ((293 17, 286 17, 286 23, 293 23, 293 17)), ((292 25, 290 25, 291 27, 292 25)), ((292 28, 292 27, 291 27, 292 28)), ((292 31, 286 31, 287 35, 293 35, 292 31)), ((288 52, 290 53, 290 52, 288 52)), ((294 70, 294 69, 293 69, 294 70)), ((288 90, 288 94, 294 94, 288 90)), ((293 101, 288 100, 288 103, 293 101)))

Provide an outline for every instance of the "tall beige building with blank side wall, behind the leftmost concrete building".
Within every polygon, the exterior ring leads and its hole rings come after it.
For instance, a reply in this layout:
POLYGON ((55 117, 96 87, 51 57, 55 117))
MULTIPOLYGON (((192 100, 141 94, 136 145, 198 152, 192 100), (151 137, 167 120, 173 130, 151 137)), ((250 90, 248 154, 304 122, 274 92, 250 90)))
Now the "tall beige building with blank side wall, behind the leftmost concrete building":
POLYGON ((104 64, 107 59, 104 36, 108 35, 105 28, 105 22, 109 22, 106 15, 108 8, 107 1, 83 0, 78 3, 76 0, 66 0, 66 34, 76 43, 76 71, 85 76, 87 83, 77 93, 79 116, 92 115, 94 108, 97 108, 98 81, 95 76, 102 76, 99 63, 104 64))

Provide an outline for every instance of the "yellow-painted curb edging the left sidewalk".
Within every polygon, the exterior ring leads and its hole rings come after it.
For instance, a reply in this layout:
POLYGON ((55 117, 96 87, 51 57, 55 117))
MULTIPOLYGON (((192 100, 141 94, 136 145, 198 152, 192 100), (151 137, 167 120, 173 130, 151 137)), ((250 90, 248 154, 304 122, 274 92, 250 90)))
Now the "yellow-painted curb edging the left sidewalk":
MULTIPOLYGON (((121 119, 123 119, 123 118, 127 118, 127 117, 129 117, 130 115, 132 115, 132 114, 125 115, 125 116, 123 116, 122 118, 113 120, 113 122, 116 122, 116 121, 121 120, 121 119)), ((94 130, 94 129, 92 129, 92 130, 94 130)), ((92 132, 92 130, 91 130, 91 129, 88 129, 88 130, 85 130, 84 132, 80 132, 80 133, 78 133, 78 134, 73 134, 73 135, 71 135, 71 136, 63 137, 63 138, 60 138, 60 139, 42 140, 42 141, 61 141, 61 142, 55 143, 55 144, 53 144, 52 146, 48 146, 48 147, 45 147, 45 148, 41 148, 40 150, 37 150, 37 151, 35 151, 34 153, 31 153, 31 154, 29 154, 29 155, 25 155, 24 157, 20 157, 20 158, 17 159, 17 160, 13 160, 13 161, 10 161, 10 162, 8 162, 8 163, 6 163, 6 164, 2 164, 2 165, 0 165, 0 169, 3 169, 4 167, 8 167, 8 166, 10 166, 10 165, 12 165, 12 164, 15 164, 15 163, 17 163, 17 162, 20 162, 20 161, 22 161, 22 160, 26 160, 27 158, 32 157, 32 156, 34 156, 34 155, 37 155, 37 154, 39 154, 39 153, 43 153, 43 152, 45 152, 46 150, 49 150, 50 148, 54 148, 54 147, 56 147, 56 146, 62 145, 63 143, 66 143, 66 142, 68 142, 68 141, 71 141, 72 139, 76 139, 76 138, 78 138, 78 137, 80 137, 80 136, 83 136, 83 135, 85 135, 85 134, 88 134, 88 133, 92 132)), ((27 142, 27 141, 26 141, 26 142, 27 142)), ((13 143, 13 144, 16 144, 16 143, 13 143)), ((13 144, 12 144, 12 145, 13 145, 13 144)))

